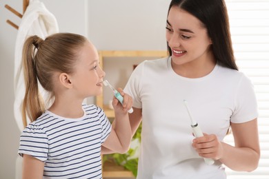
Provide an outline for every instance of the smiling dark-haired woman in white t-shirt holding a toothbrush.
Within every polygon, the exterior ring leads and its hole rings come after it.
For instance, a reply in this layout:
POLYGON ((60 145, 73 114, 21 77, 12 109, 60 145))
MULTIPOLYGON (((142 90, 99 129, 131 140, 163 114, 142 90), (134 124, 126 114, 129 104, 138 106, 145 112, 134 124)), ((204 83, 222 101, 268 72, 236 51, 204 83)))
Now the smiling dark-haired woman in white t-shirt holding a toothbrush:
POLYGON ((172 0, 166 40, 169 57, 141 63, 125 88, 132 134, 143 123, 137 178, 226 178, 222 164, 256 169, 257 102, 235 63, 224 1, 172 0), (192 135, 183 101, 203 137, 192 135), (230 128, 235 146, 223 143, 230 128))

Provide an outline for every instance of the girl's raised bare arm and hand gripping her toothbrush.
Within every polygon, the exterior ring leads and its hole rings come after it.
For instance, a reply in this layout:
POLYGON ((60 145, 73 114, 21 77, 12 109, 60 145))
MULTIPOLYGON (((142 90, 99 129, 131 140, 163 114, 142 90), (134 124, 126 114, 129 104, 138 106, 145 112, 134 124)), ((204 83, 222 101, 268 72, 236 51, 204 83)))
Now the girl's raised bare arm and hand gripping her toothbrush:
POLYGON ((112 105, 114 107, 115 118, 112 123, 110 135, 102 145, 102 154, 124 154, 130 148, 132 132, 128 109, 132 107, 132 98, 128 94, 124 94, 122 89, 118 89, 118 91, 123 96, 123 105, 116 98, 113 98, 112 105))

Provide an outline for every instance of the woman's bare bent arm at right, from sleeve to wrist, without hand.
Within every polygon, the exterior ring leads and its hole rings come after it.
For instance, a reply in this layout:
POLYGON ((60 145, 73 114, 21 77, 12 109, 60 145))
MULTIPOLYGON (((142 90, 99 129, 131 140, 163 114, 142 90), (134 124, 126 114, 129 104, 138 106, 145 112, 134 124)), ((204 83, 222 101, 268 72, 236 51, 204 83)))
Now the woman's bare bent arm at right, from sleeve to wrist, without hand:
POLYGON ((220 161, 236 171, 253 171, 260 158, 257 118, 246 123, 231 123, 235 147, 222 143, 223 156, 220 161))

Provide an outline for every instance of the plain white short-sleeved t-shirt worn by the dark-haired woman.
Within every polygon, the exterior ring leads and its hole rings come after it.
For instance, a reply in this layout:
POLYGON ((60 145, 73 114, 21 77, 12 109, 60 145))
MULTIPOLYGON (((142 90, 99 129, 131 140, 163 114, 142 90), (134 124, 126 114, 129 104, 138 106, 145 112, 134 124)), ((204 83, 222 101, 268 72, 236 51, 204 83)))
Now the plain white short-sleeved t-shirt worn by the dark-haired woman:
POLYGON ((185 78, 171 67, 171 58, 144 61, 130 76, 124 91, 142 108, 141 153, 137 179, 226 178, 221 162, 206 165, 192 148, 190 117, 202 131, 226 136, 230 121, 257 118, 250 80, 237 70, 216 65, 202 78, 185 78))

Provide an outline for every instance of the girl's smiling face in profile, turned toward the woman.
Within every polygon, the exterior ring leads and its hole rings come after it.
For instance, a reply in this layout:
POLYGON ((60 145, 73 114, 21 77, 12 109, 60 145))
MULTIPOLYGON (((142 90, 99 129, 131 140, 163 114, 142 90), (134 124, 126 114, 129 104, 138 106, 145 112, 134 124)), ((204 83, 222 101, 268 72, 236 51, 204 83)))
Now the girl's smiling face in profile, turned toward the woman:
POLYGON ((79 98, 97 96, 102 92, 102 81, 106 75, 99 66, 96 48, 87 42, 79 52, 79 59, 71 75, 73 87, 79 98))

